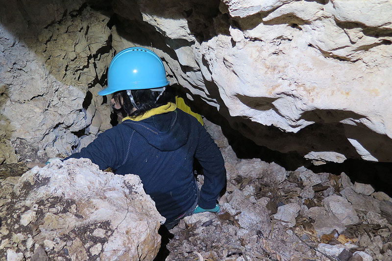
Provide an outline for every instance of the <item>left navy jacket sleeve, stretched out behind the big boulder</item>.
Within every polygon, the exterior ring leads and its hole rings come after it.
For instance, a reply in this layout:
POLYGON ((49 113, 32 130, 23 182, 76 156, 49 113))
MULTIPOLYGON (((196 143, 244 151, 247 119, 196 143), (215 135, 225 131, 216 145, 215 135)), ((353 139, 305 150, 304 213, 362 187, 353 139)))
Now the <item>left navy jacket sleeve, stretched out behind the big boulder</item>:
POLYGON ((107 130, 98 135, 86 148, 80 152, 73 153, 69 158, 88 158, 99 166, 100 170, 111 168, 116 170, 123 159, 123 144, 121 136, 113 129, 107 130), (117 134, 117 135, 116 135, 117 134))

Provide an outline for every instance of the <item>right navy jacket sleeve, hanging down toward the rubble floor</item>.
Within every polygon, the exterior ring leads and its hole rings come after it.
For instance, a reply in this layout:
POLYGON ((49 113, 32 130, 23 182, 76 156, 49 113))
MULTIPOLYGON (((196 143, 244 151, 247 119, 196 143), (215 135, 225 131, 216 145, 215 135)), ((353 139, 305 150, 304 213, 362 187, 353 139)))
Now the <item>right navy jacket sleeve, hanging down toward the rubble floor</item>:
POLYGON ((201 187, 199 207, 215 208, 219 193, 226 185, 226 169, 222 153, 210 134, 198 124, 199 140, 195 157, 204 170, 204 184, 201 187))

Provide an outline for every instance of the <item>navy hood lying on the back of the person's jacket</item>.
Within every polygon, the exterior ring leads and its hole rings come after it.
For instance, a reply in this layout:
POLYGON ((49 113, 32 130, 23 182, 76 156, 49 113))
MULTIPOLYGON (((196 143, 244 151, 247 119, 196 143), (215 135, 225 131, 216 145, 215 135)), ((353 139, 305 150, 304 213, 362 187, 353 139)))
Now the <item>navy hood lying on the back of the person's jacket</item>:
POLYGON ((126 119, 122 124, 142 135, 160 151, 175 151, 187 143, 190 126, 180 124, 177 110, 156 114, 140 121, 126 119))

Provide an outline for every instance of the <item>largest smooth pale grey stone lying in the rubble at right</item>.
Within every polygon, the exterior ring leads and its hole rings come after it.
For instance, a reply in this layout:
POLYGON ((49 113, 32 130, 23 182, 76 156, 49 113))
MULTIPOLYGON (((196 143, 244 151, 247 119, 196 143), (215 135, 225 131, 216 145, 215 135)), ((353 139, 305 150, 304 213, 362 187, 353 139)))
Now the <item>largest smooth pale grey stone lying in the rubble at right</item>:
POLYGON ((324 208, 339 218, 343 225, 359 222, 353 206, 343 196, 332 195, 324 198, 324 208))

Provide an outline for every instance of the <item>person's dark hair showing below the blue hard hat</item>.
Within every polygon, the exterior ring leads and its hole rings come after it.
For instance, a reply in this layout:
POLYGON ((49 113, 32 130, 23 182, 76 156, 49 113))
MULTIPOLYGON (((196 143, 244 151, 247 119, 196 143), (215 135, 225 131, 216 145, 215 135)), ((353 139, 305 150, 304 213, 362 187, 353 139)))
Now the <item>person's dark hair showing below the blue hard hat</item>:
POLYGON ((126 90, 113 93, 114 100, 116 103, 121 105, 121 109, 119 111, 123 117, 137 117, 143 115, 150 109, 158 108, 169 102, 174 102, 174 91, 169 86, 166 87, 166 90, 162 93, 161 97, 159 97, 158 101, 156 101, 156 98, 161 93, 160 91, 143 89, 131 90, 131 93, 133 99, 135 100, 136 106, 138 107, 138 109, 135 111, 132 111, 134 107, 131 103, 131 100, 129 99, 128 94, 126 94, 126 90), (121 102, 121 98, 123 98, 123 103, 121 102))

